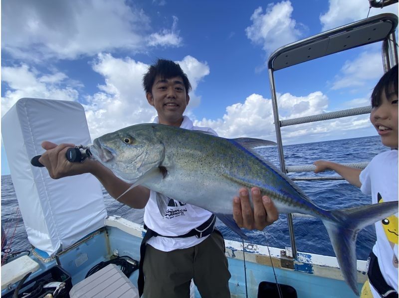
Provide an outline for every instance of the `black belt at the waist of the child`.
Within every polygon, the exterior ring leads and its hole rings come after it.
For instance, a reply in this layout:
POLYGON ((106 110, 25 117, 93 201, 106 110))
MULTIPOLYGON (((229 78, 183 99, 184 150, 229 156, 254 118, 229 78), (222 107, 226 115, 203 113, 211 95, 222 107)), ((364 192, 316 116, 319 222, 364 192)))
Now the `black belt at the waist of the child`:
POLYGON ((373 252, 370 253, 367 263, 367 276, 369 277, 369 282, 380 296, 386 298, 398 298, 398 292, 396 292, 396 290, 385 281, 380 266, 378 265, 378 258, 373 252))

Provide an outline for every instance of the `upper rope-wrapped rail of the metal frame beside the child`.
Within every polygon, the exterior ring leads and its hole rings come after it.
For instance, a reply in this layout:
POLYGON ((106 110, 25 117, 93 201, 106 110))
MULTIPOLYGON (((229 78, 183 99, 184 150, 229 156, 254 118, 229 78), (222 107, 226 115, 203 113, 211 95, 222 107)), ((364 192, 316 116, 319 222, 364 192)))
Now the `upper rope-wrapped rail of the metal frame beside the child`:
POLYGON ((368 114, 370 112, 371 112, 371 106, 342 110, 342 111, 337 111, 337 112, 323 113, 323 114, 319 114, 319 115, 312 115, 312 116, 306 116, 306 117, 300 117, 300 118, 294 118, 294 119, 281 120, 280 127, 296 125, 296 124, 303 124, 303 123, 308 123, 308 122, 337 119, 337 118, 342 118, 342 117, 363 115, 363 114, 368 114))

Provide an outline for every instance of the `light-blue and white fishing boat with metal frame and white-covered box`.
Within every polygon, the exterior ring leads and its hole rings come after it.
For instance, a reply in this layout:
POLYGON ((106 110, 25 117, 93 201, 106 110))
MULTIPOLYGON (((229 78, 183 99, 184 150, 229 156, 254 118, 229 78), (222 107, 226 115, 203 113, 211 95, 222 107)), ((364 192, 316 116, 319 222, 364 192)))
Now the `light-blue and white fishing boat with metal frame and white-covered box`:
MULTIPOLYGON (((380 41, 387 71, 398 63, 397 25, 396 15, 383 13, 288 44, 270 55, 269 84, 283 172, 310 171, 312 166, 285 166, 281 127, 366 114, 371 107, 281 121, 274 73, 380 41)), ((45 169, 30 164, 32 156, 42 151, 42 140, 90 143, 83 107, 76 102, 20 99, 2 118, 2 138, 32 249, 2 265, 1 297, 139 297, 136 269, 144 227, 108 216, 94 177, 84 174, 53 180, 45 175, 45 169)), ((284 249, 225 240, 231 297, 356 297, 345 283, 337 259, 297 251, 292 215, 288 225, 291 247, 284 249)), ((367 280, 366 261, 357 261, 357 271, 360 292, 367 280)), ((200 297, 195 287, 192 289, 192 296, 200 297)))

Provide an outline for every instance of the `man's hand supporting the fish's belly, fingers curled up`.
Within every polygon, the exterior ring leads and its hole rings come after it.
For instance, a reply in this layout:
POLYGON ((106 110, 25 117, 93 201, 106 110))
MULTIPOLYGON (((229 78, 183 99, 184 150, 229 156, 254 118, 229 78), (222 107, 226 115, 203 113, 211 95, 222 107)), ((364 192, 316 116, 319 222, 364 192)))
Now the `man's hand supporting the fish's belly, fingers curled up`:
POLYGON ((233 217, 240 228, 262 231, 278 219, 278 211, 268 196, 261 196, 259 188, 252 187, 253 212, 248 190, 240 188, 239 197, 233 199, 233 217))

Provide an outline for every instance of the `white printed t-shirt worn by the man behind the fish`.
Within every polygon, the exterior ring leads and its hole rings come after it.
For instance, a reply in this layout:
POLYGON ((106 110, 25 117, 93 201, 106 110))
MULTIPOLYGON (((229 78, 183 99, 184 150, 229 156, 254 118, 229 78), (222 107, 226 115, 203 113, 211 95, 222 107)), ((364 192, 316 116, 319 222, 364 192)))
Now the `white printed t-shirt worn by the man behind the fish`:
MULTIPOLYGON (((155 118, 154 123, 159 123, 158 117, 155 118)), ((206 131, 217 136, 210 128, 195 127, 187 116, 184 116, 183 123, 180 127, 188 130, 206 131)), ((171 199, 165 215, 162 217, 157 205, 156 192, 151 190, 150 199, 144 210, 144 223, 147 227, 160 235, 179 236, 197 228, 211 215, 212 213, 205 209, 171 199)), ((169 252, 175 249, 193 247, 206 238, 207 236, 202 238, 197 238, 196 236, 187 238, 167 238, 158 236, 150 238, 147 244, 158 250, 169 252)))

